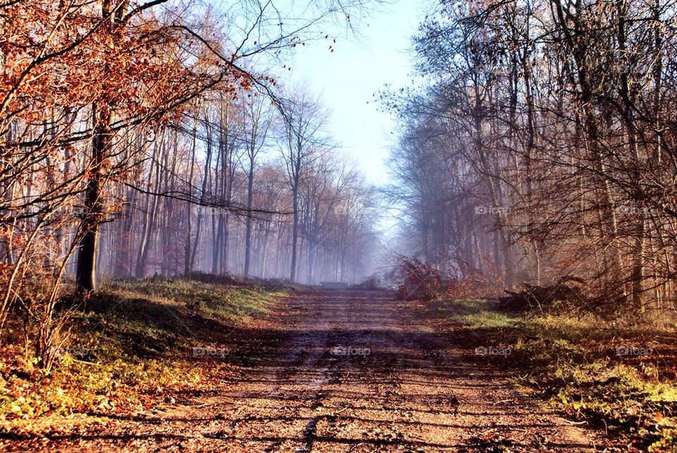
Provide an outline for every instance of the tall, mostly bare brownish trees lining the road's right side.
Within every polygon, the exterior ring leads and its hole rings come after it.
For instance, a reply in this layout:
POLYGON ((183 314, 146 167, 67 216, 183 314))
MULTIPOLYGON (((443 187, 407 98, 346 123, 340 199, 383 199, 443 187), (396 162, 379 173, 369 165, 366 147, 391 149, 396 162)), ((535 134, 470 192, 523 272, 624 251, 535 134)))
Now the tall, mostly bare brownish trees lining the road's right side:
POLYGON ((489 256, 508 290, 584 280, 609 314, 673 311, 676 11, 442 2, 415 37, 425 88, 384 94, 407 253, 464 280, 489 256))

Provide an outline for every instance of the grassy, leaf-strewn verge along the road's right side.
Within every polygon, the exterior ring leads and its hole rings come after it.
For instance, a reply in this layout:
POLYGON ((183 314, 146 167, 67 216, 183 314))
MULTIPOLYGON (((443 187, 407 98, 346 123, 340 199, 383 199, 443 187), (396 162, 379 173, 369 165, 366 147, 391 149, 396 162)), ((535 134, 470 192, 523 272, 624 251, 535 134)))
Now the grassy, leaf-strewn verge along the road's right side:
POLYGON ((432 310, 460 324, 469 347, 510 347, 502 366, 566 416, 635 451, 677 450, 674 330, 621 328, 593 316, 504 314, 472 300, 443 299, 432 310), (630 346, 653 352, 616 354, 630 346))

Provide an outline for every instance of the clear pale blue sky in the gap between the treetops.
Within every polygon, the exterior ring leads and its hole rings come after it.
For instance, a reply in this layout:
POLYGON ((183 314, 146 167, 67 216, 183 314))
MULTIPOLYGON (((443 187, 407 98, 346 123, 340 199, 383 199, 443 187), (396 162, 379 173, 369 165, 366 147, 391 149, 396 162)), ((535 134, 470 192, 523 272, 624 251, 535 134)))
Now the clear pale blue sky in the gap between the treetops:
POLYGON ((331 111, 329 132, 341 144, 339 152, 374 185, 388 181, 384 161, 396 132, 395 118, 382 110, 378 92, 385 84, 410 85, 411 37, 424 15, 420 0, 394 0, 362 18, 356 36, 338 34, 336 44, 312 42, 291 63, 291 82, 306 83, 319 95, 331 111))

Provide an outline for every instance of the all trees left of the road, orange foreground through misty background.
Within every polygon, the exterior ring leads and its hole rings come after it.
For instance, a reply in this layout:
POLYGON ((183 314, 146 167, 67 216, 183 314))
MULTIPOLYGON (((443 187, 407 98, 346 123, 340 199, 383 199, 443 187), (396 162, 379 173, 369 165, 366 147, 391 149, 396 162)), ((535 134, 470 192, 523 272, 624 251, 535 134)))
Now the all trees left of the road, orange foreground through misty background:
POLYGON ((65 298, 75 287, 87 300, 97 274, 237 272, 242 253, 248 275, 289 275, 291 211, 294 241, 303 234, 294 251, 343 260, 341 278, 349 268, 358 278, 371 195, 355 172, 306 132, 293 189, 283 162, 256 159, 272 145, 262 130, 284 142, 293 115, 255 56, 281 59, 319 19, 282 24, 272 4, 238 8, 257 33, 183 1, 0 4, 0 341, 11 314, 42 368, 68 337, 65 298))

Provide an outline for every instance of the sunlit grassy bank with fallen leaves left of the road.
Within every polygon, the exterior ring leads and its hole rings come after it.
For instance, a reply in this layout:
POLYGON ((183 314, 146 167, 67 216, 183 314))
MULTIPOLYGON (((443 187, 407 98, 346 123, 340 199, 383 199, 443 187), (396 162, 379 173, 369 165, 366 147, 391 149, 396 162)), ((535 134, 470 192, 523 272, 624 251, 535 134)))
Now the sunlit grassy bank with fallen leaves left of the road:
POLYGON ((231 326, 264 316, 284 292, 183 279, 107 283, 77 304, 63 345, 69 353, 50 373, 20 342, 1 348, 0 421, 133 412, 166 392, 207 389, 222 362, 196 360, 192 348, 221 347, 231 326))

